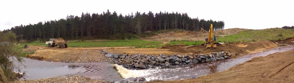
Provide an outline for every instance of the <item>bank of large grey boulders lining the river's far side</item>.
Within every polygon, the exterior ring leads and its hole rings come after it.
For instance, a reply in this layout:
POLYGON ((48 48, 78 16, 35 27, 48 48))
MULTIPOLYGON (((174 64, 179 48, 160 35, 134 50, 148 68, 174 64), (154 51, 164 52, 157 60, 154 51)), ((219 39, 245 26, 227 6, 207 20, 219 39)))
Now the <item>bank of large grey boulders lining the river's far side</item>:
POLYGON ((215 62, 222 59, 230 59, 236 53, 230 52, 212 52, 211 54, 183 54, 183 55, 168 55, 160 54, 146 55, 146 54, 114 54, 102 50, 102 53, 109 61, 115 64, 123 65, 128 69, 147 69, 147 68, 164 68, 174 65, 193 65, 204 62, 215 62))

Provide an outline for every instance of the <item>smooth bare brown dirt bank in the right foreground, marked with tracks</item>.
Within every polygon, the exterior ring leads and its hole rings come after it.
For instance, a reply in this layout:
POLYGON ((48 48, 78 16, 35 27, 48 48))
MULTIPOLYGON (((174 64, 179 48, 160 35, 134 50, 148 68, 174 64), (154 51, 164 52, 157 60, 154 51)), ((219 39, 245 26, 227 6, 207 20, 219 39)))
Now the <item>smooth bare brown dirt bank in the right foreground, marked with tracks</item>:
POLYGON ((255 57, 227 71, 197 79, 153 81, 149 83, 293 83, 294 50, 255 57))

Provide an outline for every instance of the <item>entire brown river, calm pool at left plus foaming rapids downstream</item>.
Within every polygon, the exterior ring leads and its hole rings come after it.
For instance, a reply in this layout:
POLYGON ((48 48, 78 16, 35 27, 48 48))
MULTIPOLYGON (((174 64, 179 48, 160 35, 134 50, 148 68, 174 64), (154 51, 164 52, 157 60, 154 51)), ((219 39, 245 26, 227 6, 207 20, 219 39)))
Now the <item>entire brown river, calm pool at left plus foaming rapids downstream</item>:
MULTIPOLYGON (((44 79, 55 76, 65 75, 81 75, 90 77, 91 79, 105 79, 107 81, 117 81, 128 77, 145 77, 146 80, 174 80, 174 79, 190 79, 205 74, 224 71, 236 64, 243 63, 253 57, 266 56, 275 52, 285 52, 293 50, 294 47, 274 47, 263 52, 248 54, 234 59, 225 59, 217 62, 194 64, 193 66, 178 66, 175 68, 165 69, 142 69, 129 70, 120 65, 113 65, 107 62, 93 63, 63 63, 63 62, 47 62, 35 59, 24 58, 24 65, 20 68, 26 72, 26 79, 44 79), (116 67, 116 69, 114 69, 116 67), (117 71, 118 70, 118 71, 117 71)), ((23 79, 23 78, 22 78, 23 79)))

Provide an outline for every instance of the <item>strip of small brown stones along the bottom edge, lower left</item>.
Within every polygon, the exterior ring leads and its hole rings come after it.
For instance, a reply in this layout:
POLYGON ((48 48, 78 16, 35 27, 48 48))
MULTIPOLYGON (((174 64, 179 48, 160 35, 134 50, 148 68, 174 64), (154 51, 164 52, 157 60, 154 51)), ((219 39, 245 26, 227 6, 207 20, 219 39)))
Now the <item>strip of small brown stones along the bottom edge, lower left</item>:
POLYGON ((48 79, 17 80, 15 83, 110 83, 99 79, 90 79, 82 76, 52 77, 48 79))

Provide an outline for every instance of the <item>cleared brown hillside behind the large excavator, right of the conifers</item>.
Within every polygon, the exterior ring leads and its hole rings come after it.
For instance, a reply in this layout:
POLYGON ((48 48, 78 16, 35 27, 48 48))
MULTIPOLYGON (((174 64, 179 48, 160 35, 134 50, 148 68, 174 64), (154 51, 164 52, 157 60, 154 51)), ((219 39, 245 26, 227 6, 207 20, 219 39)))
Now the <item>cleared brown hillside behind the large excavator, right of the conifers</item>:
MULTIPOLYGON (((226 36, 229 34, 236 34, 240 31, 246 29, 240 28, 232 28, 232 29, 223 29, 214 31, 213 34, 217 36, 226 36)), ((184 31, 184 32, 176 32, 171 31, 167 33, 160 33, 156 36, 151 36, 148 38, 142 38, 144 40, 152 40, 152 41, 171 41, 171 40, 193 40, 193 41, 203 41, 205 37, 208 36, 208 32, 192 32, 192 31, 184 31)))

